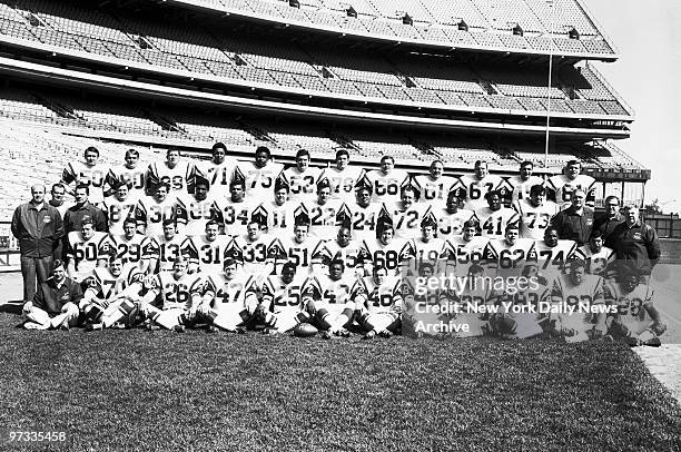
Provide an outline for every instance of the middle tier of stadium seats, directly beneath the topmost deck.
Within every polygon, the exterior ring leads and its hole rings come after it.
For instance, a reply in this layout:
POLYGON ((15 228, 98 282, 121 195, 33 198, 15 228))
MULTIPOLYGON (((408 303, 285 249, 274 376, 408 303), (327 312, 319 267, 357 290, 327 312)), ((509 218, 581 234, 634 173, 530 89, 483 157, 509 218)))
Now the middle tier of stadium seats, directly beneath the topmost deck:
MULTIPOLYGON (((474 7, 473 0, 458 1, 474 7)), ((570 1, 563 0, 565 4, 570 1)), ((388 3, 375 4, 367 0, 362 7, 367 11, 373 9, 375 13, 393 8, 388 3)), ((521 77, 515 69, 505 70, 503 66, 473 68, 433 58, 427 68, 423 68, 417 59, 391 60, 361 50, 332 53, 320 48, 225 35, 219 30, 204 31, 177 23, 167 26, 141 21, 122 13, 114 18, 71 3, 18 0, 14 8, 4 3, 0 6, 0 39, 9 36, 91 53, 97 59, 106 57, 121 63, 150 65, 161 71, 182 71, 197 77, 208 75, 226 82, 244 83, 246 80, 283 90, 295 88, 407 105, 463 105, 526 111, 546 109, 545 102, 540 100, 546 97, 543 86, 545 68, 541 67, 529 67, 521 77), (457 96, 452 96, 452 92, 457 96), (524 102, 521 98, 536 101, 524 102)), ((494 14, 507 8, 511 8, 507 1, 488 7, 495 10, 494 14)), ((521 12, 516 11, 516 14, 529 14, 527 8, 519 8, 521 12)), ((425 8, 421 9, 424 11, 425 8)), ((486 14, 492 13, 487 11, 486 14)), ((495 33, 476 31, 471 36, 478 43, 494 41, 494 46, 501 45, 495 33)), ((554 114, 628 115, 616 95, 588 67, 563 68, 560 79, 554 80, 551 96, 557 99, 552 102, 554 114), (582 101, 565 102, 569 96, 561 87, 575 92, 574 96, 582 101)))

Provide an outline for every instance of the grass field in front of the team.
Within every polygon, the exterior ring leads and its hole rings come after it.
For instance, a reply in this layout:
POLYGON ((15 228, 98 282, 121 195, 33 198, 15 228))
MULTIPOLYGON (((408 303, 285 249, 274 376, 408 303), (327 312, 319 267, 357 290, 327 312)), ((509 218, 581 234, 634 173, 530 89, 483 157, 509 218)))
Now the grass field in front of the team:
POLYGON ((0 446, 681 450, 681 407, 628 347, 26 332, 0 314, 0 446))

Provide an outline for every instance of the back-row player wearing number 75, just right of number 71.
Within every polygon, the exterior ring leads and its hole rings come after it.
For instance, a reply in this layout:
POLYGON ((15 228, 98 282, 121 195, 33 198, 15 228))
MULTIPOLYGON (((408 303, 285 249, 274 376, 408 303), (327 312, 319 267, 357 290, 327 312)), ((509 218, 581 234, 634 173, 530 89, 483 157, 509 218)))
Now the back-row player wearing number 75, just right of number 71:
POLYGON ((269 149, 260 146, 255 151, 254 161, 237 164, 234 177, 244 180, 247 200, 261 203, 272 199, 275 180, 283 170, 284 165, 273 163, 269 149))

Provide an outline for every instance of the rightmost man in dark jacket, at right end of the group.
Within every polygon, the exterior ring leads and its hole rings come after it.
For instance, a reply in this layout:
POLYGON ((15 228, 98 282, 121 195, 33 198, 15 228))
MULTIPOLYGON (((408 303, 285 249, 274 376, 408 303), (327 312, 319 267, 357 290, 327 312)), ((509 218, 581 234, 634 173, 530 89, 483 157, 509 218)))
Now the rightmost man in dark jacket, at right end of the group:
POLYGON ((605 245, 614 249, 621 266, 634 268, 643 276, 650 275, 660 258, 658 232, 641 222, 636 206, 624 207, 624 223, 612 230, 605 245))

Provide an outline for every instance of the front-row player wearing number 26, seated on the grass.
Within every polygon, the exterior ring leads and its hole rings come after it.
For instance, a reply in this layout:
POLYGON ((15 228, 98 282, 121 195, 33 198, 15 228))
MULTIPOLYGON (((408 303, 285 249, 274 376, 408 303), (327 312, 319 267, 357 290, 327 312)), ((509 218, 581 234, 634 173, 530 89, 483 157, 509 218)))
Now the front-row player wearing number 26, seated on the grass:
POLYGON ((158 325, 184 332, 194 321, 205 282, 200 274, 187 273, 188 264, 179 255, 172 263, 172 272, 161 272, 149 281, 147 293, 139 302, 139 312, 149 321, 149 328, 158 325))

